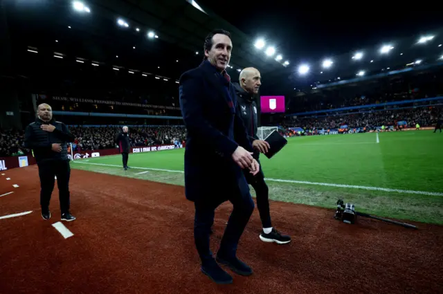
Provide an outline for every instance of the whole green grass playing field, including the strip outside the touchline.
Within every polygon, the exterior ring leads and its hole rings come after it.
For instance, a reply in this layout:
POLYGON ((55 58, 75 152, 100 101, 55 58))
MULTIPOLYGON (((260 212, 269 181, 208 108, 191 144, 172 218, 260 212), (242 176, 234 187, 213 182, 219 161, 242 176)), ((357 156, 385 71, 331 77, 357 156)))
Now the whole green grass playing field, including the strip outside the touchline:
MULTIPOLYGON (((399 131, 378 137, 379 143, 376 133, 288 138, 273 158, 260 156, 269 198, 332 210, 340 198, 357 211, 443 224, 443 134, 399 131)), ((75 160, 71 166, 184 185, 183 153, 129 154, 127 172, 120 155, 75 160)))

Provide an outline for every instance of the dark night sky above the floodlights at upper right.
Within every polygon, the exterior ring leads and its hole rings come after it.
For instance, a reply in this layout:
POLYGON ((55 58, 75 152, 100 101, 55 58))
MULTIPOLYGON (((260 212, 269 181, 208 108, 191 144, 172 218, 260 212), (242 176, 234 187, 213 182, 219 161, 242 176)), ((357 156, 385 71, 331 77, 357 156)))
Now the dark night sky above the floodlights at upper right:
POLYGON ((419 11, 419 7, 406 4, 403 9, 393 4, 392 9, 386 3, 361 1, 342 7, 331 3, 330 7, 324 7, 325 4, 315 1, 313 7, 305 8, 298 2, 297 6, 289 4, 293 1, 264 1, 266 5, 242 0, 228 1, 228 5, 215 0, 197 0, 197 3, 251 37, 269 36, 278 42, 275 44, 280 49, 278 52, 292 61, 348 53, 392 38, 432 33, 433 28, 443 26, 440 10, 419 11))

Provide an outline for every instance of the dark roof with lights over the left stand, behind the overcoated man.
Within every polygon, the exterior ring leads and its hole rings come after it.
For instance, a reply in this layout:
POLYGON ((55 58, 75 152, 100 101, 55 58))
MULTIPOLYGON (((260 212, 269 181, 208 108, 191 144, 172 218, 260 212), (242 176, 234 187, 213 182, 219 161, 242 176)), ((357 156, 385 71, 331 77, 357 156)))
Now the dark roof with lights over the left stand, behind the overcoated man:
POLYGON ((83 6, 76 4, 80 11, 74 2, 8 3, 15 60, 29 49, 176 80, 201 62, 208 32, 224 28, 235 44, 229 68, 233 77, 246 66, 260 68, 262 73, 284 68, 275 59, 246 54, 253 40, 210 10, 199 10, 185 0, 81 1, 83 6))

